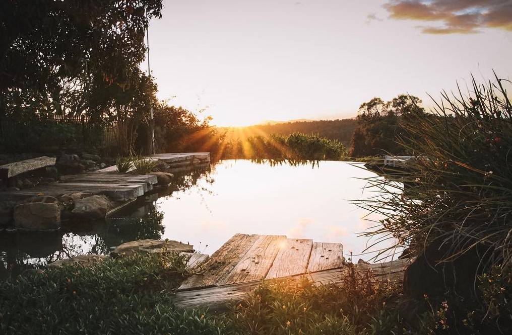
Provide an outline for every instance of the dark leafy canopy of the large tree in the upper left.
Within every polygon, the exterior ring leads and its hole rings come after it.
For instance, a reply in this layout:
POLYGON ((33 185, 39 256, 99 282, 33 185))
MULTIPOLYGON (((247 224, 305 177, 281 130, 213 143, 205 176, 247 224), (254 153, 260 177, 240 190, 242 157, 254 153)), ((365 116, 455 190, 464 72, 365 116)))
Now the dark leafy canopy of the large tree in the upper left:
POLYGON ((0 120, 78 114, 101 104, 95 89, 129 89, 161 9, 162 0, 0 2, 0 120))

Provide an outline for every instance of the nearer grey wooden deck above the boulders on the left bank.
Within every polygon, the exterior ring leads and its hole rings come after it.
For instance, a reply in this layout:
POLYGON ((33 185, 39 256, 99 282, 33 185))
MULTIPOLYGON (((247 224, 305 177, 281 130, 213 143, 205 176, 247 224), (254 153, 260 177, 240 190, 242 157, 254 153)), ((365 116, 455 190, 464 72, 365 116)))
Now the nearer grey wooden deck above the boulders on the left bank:
POLYGON ((0 200, 23 200, 45 195, 59 197, 77 192, 105 195, 116 201, 134 200, 153 189, 157 183, 153 175, 127 175, 88 172, 62 176, 58 182, 36 185, 32 188, 0 192, 0 200))

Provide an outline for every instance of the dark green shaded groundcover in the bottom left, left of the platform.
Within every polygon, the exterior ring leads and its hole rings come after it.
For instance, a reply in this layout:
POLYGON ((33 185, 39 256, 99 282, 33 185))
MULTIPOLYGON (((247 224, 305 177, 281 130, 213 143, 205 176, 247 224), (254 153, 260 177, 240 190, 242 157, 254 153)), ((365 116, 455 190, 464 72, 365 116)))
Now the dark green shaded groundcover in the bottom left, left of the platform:
POLYGON ((31 271, 0 283, 2 334, 215 334, 222 323, 172 304, 186 259, 135 255, 31 271))

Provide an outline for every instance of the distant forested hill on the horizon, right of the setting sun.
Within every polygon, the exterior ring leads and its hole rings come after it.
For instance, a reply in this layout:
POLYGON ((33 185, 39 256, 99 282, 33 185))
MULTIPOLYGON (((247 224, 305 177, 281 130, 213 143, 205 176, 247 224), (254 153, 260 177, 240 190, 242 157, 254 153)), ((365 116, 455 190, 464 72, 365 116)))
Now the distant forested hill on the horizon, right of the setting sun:
POLYGON ((337 139, 350 147, 352 133, 357 125, 355 118, 336 120, 298 119, 287 122, 267 123, 242 128, 223 128, 231 138, 245 139, 255 135, 289 135, 292 133, 319 134, 329 139, 337 139))

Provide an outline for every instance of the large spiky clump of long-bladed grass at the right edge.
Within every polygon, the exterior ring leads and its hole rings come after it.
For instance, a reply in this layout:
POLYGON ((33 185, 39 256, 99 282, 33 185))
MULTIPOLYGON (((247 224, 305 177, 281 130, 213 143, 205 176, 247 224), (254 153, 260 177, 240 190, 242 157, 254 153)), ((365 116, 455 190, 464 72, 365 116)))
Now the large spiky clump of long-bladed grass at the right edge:
POLYGON ((370 178, 381 198, 362 205, 382 213, 367 235, 384 234, 421 254, 429 245, 439 262, 474 253, 477 273, 512 262, 512 104, 510 81, 442 93, 431 112, 403 115, 399 143, 415 159, 387 180, 370 178), (393 181, 389 181, 393 180, 393 181))

